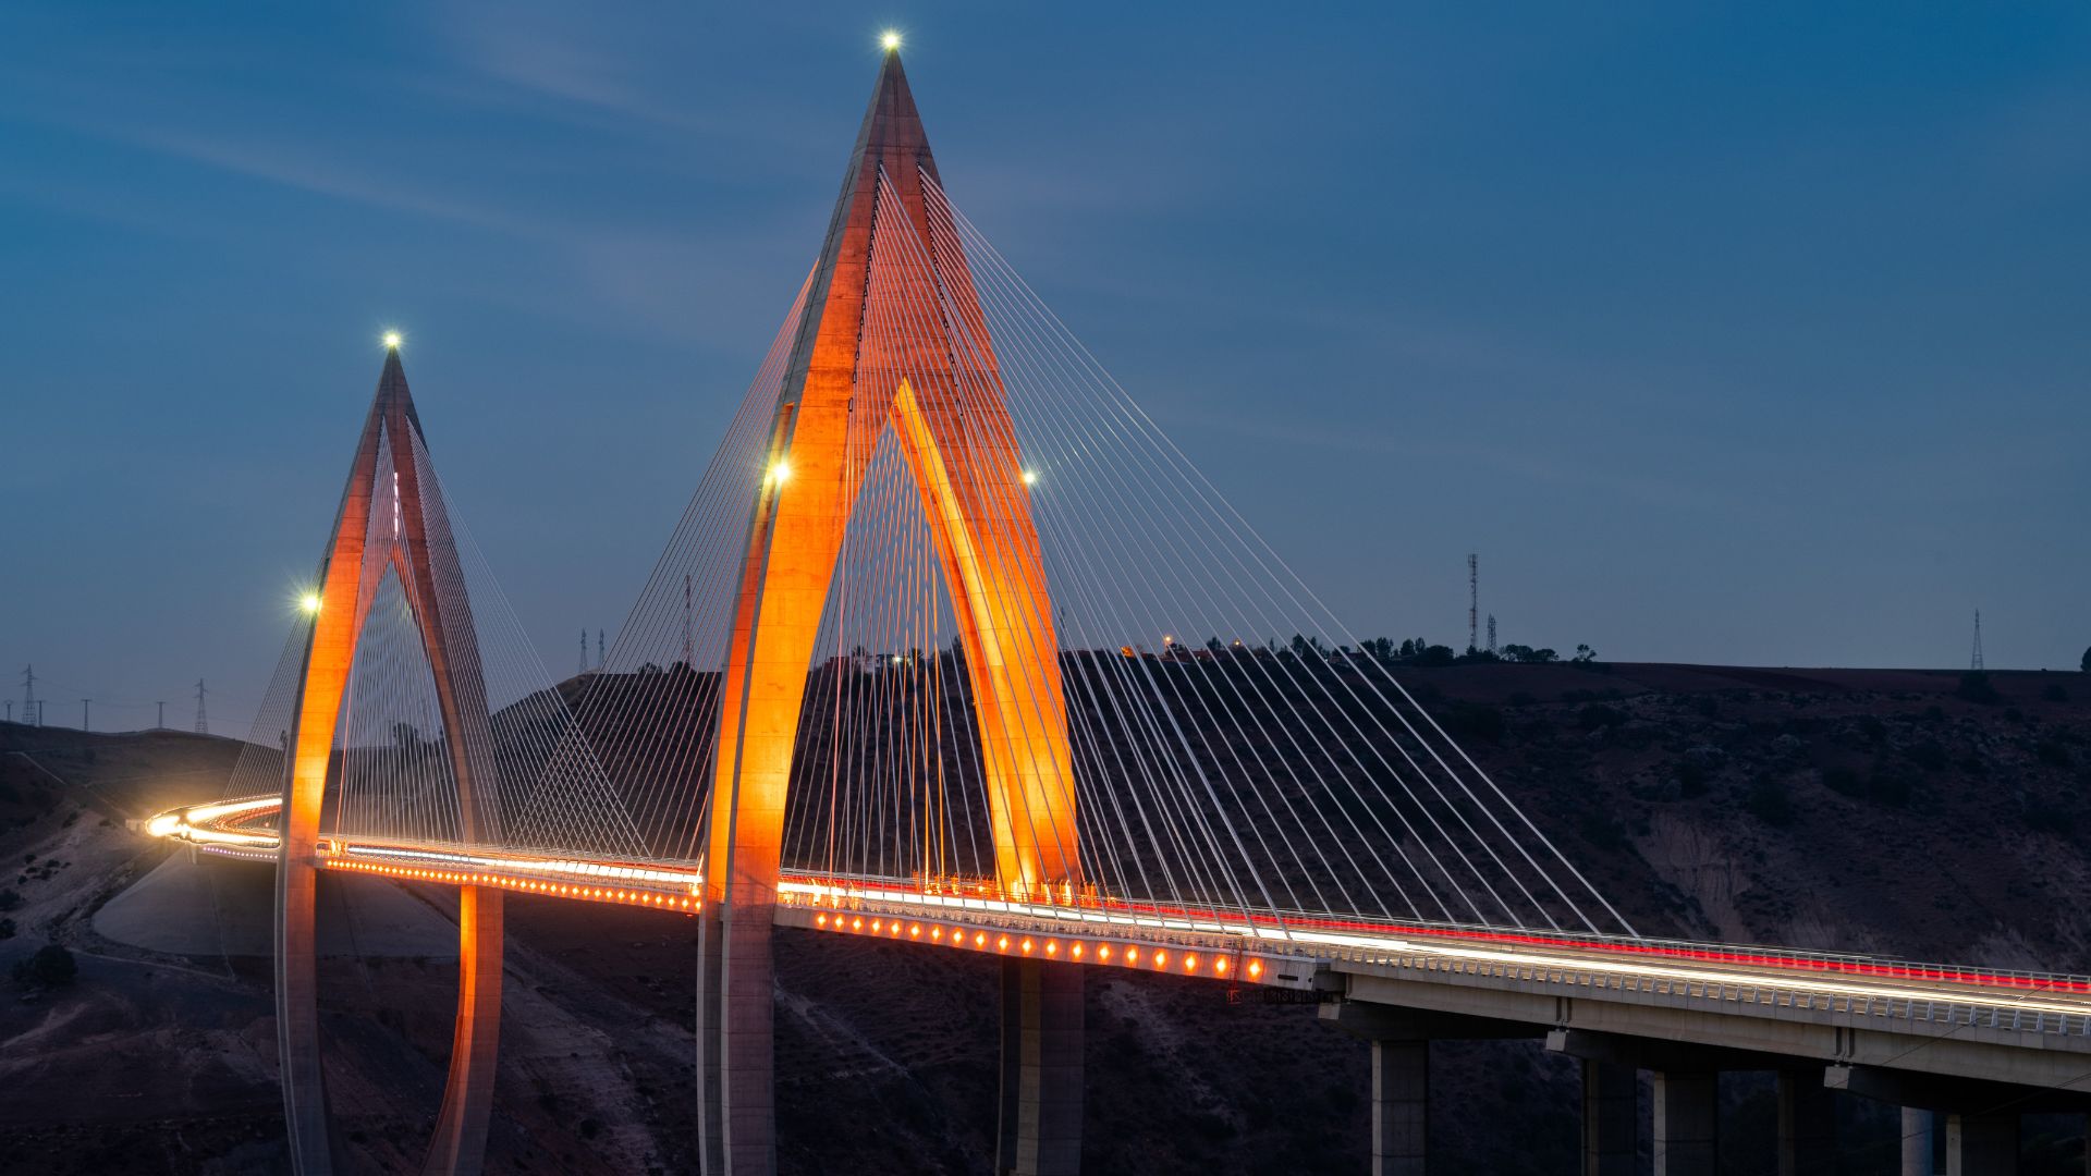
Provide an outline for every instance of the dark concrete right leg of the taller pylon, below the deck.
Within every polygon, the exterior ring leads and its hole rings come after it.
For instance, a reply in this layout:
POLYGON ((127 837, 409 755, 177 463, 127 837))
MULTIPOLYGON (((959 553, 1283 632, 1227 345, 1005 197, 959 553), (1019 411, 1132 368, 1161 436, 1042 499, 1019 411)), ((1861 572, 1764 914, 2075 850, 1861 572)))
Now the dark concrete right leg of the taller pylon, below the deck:
POLYGON ((1002 960, 997 1172, 1081 1172, 1081 965, 1002 960))

